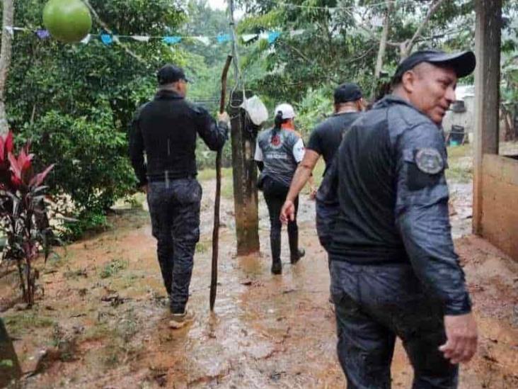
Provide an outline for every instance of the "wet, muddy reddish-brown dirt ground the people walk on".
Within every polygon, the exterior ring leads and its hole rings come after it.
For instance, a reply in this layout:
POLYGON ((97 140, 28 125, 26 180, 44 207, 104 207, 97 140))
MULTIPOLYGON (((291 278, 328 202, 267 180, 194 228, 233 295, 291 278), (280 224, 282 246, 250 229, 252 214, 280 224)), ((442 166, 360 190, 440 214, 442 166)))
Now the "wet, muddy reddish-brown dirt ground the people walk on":
MULTIPOLYGON (((218 295, 210 314, 212 188, 212 182, 204 184, 190 298, 197 316, 189 327, 167 328, 165 292, 144 210, 117 215, 110 231, 51 259, 42 270, 45 297, 32 311, 8 308, 16 278, 0 280, 1 315, 24 371, 33 372, 23 387, 345 387, 314 203, 301 198, 306 257, 290 265, 283 235, 283 274, 272 276, 263 201, 263 255, 241 258, 234 256, 233 205, 223 201, 218 295)), ((461 368, 461 388, 518 388, 518 264, 476 237, 463 237, 456 245, 481 334, 476 359, 461 368)), ((393 387, 410 388, 411 378, 398 344, 393 387)))

